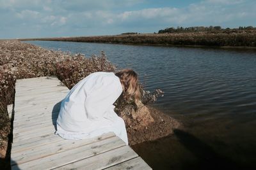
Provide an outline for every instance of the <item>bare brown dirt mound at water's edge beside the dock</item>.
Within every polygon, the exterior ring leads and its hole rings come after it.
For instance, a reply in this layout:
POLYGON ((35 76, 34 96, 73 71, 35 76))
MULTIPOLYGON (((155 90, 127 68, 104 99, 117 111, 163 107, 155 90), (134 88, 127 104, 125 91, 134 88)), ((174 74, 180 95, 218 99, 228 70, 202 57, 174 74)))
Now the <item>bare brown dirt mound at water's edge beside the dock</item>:
POLYGON ((127 106, 120 113, 125 121, 129 145, 152 141, 173 134, 181 124, 172 117, 150 106, 134 110, 127 106))

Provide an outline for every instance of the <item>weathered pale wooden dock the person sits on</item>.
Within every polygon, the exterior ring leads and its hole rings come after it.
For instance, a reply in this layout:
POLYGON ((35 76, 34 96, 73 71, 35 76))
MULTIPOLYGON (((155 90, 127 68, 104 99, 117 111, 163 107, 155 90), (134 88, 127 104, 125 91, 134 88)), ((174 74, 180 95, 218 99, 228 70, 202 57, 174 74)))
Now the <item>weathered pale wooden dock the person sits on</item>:
POLYGON ((67 87, 54 77, 17 80, 12 169, 151 169, 113 132, 92 139, 55 135, 67 87))

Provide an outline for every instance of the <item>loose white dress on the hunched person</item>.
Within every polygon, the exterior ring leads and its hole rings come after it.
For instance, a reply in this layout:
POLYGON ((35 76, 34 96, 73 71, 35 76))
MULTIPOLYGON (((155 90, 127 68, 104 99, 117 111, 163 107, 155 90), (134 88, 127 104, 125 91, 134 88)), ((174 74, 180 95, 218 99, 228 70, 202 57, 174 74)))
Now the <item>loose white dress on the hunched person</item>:
POLYGON ((92 73, 79 81, 61 103, 56 134, 85 139, 114 132, 128 145, 124 120, 114 111, 122 85, 114 73, 92 73))

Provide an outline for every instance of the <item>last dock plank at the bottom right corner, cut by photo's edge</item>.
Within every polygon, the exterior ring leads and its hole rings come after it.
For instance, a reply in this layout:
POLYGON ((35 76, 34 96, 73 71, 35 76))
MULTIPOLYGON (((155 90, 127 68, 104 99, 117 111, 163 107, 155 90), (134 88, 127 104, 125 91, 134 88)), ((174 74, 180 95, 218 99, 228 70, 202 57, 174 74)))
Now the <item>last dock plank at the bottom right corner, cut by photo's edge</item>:
POLYGON ((141 157, 136 157, 131 160, 127 160, 122 162, 121 164, 117 164, 115 166, 108 167, 106 170, 122 170, 122 169, 143 169, 150 170, 152 169, 148 164, 141 159, 141 157))

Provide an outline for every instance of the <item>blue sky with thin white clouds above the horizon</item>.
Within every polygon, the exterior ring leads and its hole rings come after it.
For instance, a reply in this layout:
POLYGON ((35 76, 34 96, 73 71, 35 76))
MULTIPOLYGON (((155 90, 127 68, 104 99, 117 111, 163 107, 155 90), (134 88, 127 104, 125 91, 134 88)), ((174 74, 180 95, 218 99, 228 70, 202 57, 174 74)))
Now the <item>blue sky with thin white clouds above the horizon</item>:
POLYGON ((0 39, 256 27, 255 0, 0 0, 0 39))

